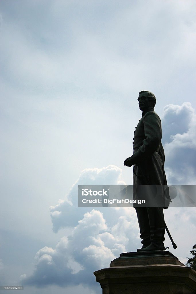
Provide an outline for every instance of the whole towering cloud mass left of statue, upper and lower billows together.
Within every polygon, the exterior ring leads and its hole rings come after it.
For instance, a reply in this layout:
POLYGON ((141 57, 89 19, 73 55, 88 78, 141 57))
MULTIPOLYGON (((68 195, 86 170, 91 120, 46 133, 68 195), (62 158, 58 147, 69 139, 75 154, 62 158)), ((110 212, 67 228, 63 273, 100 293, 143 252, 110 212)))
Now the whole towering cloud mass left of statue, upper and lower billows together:
POLYGON ((33 274, 29 277, 22 275, 21 283, 37 287, 48 284, 94 287, 93 271, 108 267, 120 253, 136 249, 134 240, 138 235, 138 224, 135 209, 101 208, 98 211, 77 208, 78 184, 125 184, 120 179, 121 172, 113 165, 81 172, 66 201, 50 208, 55 230, 72 226, 72 233, 61 238, 54 249, 41 248, 35 256, 33 274))

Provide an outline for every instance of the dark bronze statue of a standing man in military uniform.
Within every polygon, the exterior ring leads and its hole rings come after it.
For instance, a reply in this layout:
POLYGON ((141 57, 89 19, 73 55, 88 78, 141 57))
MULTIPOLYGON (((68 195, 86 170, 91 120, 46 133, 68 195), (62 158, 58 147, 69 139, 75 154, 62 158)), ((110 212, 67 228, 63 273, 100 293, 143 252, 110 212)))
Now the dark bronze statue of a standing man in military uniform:
MULTIPOLYGON (((141 91, 138 102, 142 118, 134 131, 133 155, 124 161, 125 166, 133 166, 133 198, 137 197, 137 185, 167 185, 163 167, 165 154, 161 144, 161 121, 154 111, 155 95, 141 91)), ((135 207, 143 244, 137 251, 165 249, 163 208, 168 208, 171 201, 165 202, 164 189, 160 197, 163 197, 162 207, 135 207)))

